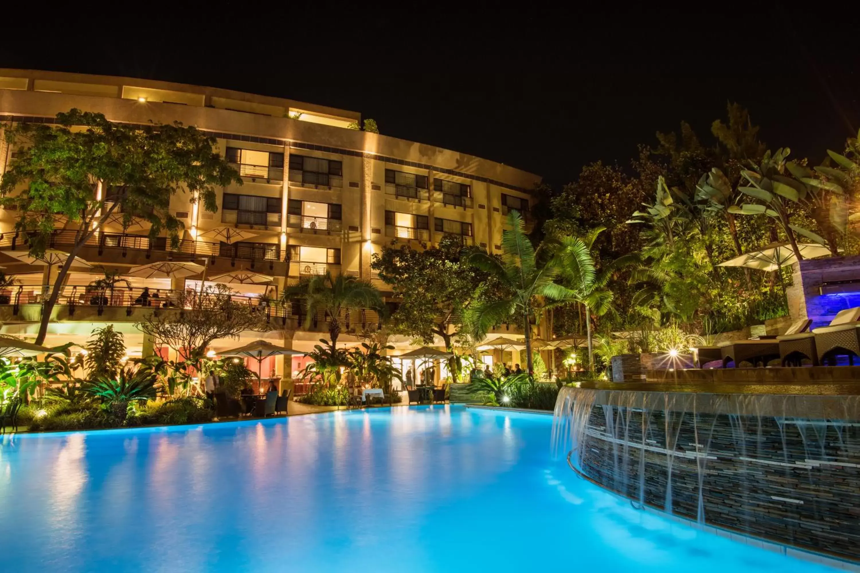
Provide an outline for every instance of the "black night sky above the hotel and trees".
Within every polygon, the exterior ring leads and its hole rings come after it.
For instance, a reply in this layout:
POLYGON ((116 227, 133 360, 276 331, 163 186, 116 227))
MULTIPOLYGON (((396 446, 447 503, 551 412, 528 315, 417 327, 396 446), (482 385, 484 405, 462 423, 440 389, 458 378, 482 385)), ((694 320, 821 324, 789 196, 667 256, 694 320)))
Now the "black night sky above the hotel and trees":
POLYGON ((341 107, 376 119, 386 135, 504 162, 556 186, 587 162, 626 166, 637 143, 654 143, 655 131, 677 130, 682 119, 710 142, 727 101, 750 109, 769 146, 813 162, 860 127, 860 15, 851 3, 720 3, 684 14, 279 5, 287 8, 128 3, 131 16, 80 9, 38 23, 28 23, 32 12, 11 15, 0 67, 341 107))

